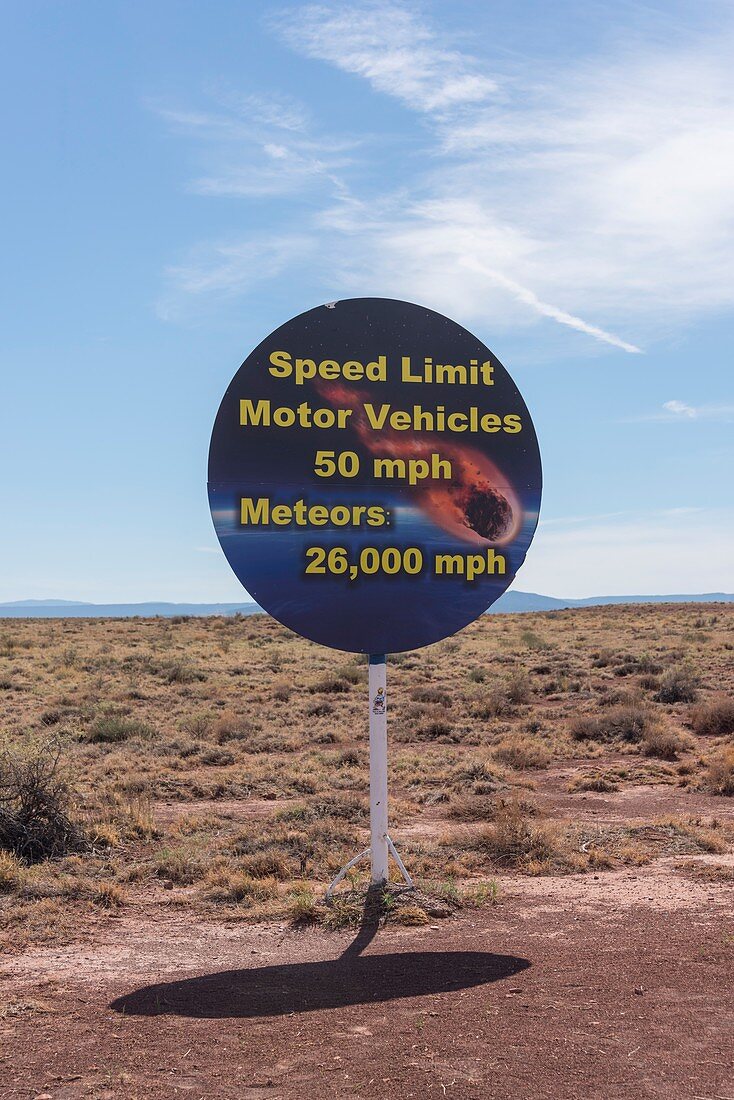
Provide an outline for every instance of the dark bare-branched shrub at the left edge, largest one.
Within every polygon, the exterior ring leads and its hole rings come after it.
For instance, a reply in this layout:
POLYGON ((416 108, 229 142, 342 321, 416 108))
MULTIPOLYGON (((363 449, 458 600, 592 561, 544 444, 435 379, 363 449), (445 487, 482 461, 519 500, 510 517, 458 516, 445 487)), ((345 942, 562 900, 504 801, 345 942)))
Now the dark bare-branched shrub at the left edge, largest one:
POLYGON ((70 817, 70 793, 58 745, 0 752, 0 849, 26 862, 63 856, 84 845, 70 817))

